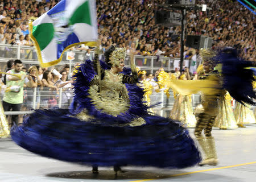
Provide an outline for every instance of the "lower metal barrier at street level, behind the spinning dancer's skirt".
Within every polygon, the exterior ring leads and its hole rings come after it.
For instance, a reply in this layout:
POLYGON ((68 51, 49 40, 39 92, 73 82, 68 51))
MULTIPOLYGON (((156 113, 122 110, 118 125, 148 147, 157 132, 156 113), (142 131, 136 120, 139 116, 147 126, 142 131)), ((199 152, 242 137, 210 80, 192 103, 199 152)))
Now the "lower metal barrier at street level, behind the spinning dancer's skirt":
MULTIPOLYGON (((2 100, 3 94, 0 94, 2 100)), ((24 88, 23 104, 20 111, 5 111, 6 115, 14 114, 30 114, 33 109, 51 109, 59 107, 68 109, 73 100, 73 90, 60 88, 59 90, 51 90, 48 87, 24 88)), ((153 92, 150 96, 151 105, 155 105, 152 109, 156 114, 168 117, 172 106, 174 105, 174 95, 170 92, 167 98, 163 92, 153 92), (157 104, 157 105, 156 105, 157 104)), ((192 94, 192 105, 196 106, 200 103, 200 95, 192 94)))

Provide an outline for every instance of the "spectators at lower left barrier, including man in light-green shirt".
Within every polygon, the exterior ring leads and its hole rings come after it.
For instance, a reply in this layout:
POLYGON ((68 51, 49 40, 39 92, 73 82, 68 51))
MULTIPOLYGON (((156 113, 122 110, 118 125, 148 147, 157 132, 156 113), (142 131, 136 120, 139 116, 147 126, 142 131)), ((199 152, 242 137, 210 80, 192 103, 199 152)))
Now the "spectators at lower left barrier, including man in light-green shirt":
MULTIPOLYGON (((22 61, 7 61, 7 74, 0 75, 2 105, 5 111, 20 111, 60 106, 67 109, 72 102, 72 75, 68 64, 60 71, 57 68, 42 69, 32 65, 26 69, 22 61), (15 76, 14 76, 15 75, 15 76), (36 96, 36 97, 34 97, 36 96)), ((22 121, 18 115, 13 115, 11 124, 22 121)))

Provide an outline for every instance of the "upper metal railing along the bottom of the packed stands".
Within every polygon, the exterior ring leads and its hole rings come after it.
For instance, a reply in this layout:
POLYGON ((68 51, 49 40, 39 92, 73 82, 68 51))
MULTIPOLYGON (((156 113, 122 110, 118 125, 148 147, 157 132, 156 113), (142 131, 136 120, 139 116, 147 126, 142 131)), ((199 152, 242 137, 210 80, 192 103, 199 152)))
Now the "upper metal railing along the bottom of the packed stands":
MULTIPOLYGON (((85 59, 92 60, 94 57, 94 52, 86 52, 80 50, 73 50, 72 57, 73 60, 69 60, 67 55, 69 52, 65 52, 63 59, 59 63, 59 65, 69 64, 71 68, 76 63, 82 63, 85 59)), ((101 56, 100 56, 101 57, 101 56)), ((19 45, 9 45, 9 44, 0 44, 0 68, 6 67, 6 61, 10 59, 20 59, 23 61, 26 67, 30 67, 31 65, 39 64, 38 57, 36 55, 36 51, 34 47, 31 46, 19 46, 19 45), (2 63, 2 64, 1 64, 2 63)), ((171 71, 175 68, 179 68, 179 59, 172 59, 170 57, 164 56, 142 56, 142 55, 134 55, 135 65, 140 67, 147 72, 154 73, 159 68, 164 68, 165 71, 171 71)), ((200 61, 197 61, 197 65, 199 65, 200 61)), ((130 57, 127 55, 125 59, 125 65, 130 65, 130 57)), ((189 67, 189 60, 184 60, 184 66, 189 67)))

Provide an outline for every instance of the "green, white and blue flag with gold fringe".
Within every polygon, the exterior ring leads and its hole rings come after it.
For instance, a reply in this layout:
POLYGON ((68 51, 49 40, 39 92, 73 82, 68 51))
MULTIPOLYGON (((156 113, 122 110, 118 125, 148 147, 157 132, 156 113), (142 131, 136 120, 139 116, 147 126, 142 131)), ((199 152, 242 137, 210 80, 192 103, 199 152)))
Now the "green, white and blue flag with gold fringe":
POLYGON ((64 51, 78 44, 94 46, 98 38, 95 0, 61 0, 30 23, 40 65, 59 63, 64 51))

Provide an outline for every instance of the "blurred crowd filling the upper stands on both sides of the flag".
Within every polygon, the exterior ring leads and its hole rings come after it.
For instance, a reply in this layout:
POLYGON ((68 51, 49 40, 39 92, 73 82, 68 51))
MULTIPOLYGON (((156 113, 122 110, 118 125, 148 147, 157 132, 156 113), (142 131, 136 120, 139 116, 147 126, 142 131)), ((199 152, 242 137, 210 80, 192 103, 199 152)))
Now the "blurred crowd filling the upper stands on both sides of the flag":
MULTIPOLYGON (((35 20, 59 0, 3 0, 0 2, 0 44, 32 46, 28 22, 35 20)), ((112 44, 127 54, 180 57, 180 27, 155 25, 156 5, 164 0, 97 0, 98 32, 102 49, 112 44)), ((187 12, 186 35, 213 38, 213 47, 232 46, 246 60, 255 60, 255 16, 237 1, 196 1, 211 10, 187 12)), ((78 49, 90 53, 91 49, 78 49)), ((196 50, 197 51, 197 50, 196 50)), ((5 53, 0 48, 0 56, 5 53)))

